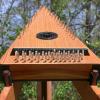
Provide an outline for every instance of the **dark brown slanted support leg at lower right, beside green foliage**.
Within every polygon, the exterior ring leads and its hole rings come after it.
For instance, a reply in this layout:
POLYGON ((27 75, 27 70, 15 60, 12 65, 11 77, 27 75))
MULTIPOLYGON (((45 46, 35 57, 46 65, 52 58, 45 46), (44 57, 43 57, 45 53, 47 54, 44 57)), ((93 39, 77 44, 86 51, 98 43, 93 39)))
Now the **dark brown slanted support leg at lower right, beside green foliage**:
POLYGON ((100 100, 93 92, 89 82, 87 81, 73 81, 74 86, 82 97, 82 100, 100 100))

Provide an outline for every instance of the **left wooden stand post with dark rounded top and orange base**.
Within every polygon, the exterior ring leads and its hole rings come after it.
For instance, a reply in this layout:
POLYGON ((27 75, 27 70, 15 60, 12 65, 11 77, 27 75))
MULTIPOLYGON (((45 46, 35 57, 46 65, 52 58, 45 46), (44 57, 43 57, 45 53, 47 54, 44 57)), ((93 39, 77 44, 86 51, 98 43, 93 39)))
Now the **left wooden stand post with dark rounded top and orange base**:
POLYGON ((5 83, 5 87, 0 94, 0 100, 15 100, 15 94, 10 71, 3 70, 2 77, 5 83))

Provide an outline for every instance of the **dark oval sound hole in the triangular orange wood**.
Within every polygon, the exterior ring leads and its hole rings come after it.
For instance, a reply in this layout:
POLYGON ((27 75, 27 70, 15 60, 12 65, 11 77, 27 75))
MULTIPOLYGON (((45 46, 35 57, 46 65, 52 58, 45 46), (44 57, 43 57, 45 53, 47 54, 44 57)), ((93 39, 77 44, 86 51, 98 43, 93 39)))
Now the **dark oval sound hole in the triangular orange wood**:
POLYGON ((54 32, 40 32, 36 35, 36 37, 42 40, 52 40, 56 39, 58 37, 58 34, 54 32))

